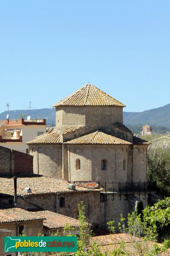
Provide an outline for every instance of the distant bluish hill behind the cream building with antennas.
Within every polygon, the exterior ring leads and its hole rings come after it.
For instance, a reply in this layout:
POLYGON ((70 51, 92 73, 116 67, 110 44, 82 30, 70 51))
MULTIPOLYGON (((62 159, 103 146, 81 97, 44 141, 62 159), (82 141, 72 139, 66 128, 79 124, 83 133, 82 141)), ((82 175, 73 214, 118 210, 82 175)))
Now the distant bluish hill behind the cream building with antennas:
MULTIPOLYGON (((4 111, 0 113, 0 119, 6 119, 8 111, 4 111)), ((19 118, 19 114, 26 114, 26 117, 29 115, 29 110, 10 110, 9 111, 9 119, 19 118)), ((42 109, 34 109, 30 111, 31 119, 46 119, 47 125, 52 125, 52 123, 56 122, 55 117, 55 108, 42 108, 42 109)))

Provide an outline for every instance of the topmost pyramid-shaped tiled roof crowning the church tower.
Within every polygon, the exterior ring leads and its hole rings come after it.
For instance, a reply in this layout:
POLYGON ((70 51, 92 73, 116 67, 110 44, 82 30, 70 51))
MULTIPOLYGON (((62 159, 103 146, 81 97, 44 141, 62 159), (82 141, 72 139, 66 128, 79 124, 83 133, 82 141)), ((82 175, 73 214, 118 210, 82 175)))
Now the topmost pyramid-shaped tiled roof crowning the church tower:
POLYGON ((119 106, 124 104, 109 96, 93 84, 86 84, 71 95, 53 105, 57 106, 119 106))

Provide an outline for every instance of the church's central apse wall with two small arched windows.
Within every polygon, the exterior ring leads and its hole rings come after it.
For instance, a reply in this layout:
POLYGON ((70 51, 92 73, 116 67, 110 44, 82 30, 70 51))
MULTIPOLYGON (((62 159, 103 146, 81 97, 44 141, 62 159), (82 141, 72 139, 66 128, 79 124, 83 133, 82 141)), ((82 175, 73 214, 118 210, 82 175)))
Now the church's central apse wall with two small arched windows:
POLYGON ((68 145, 69 180, 127 181, 128 146, 68 145), (80 169, 76 169, 76 159, 80 169), (106 168, 102 169, 102 160, 106 168))

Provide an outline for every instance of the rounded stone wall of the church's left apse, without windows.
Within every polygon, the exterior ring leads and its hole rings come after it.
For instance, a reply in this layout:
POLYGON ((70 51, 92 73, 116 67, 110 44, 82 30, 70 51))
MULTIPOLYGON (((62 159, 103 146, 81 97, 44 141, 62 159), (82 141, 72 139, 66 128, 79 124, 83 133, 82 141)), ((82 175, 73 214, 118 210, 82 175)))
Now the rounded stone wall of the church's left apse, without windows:
POLYGON ((62 145, 29 145, 34 173, 62 178, 62 145))

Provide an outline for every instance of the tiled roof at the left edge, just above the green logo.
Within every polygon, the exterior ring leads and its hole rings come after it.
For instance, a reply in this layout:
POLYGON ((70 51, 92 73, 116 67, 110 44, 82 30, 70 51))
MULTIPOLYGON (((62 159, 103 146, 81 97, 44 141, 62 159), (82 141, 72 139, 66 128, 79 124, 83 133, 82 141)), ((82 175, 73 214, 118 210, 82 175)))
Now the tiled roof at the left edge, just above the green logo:
POLYGON ((0 223, 43 220, 36 212, 28 212, 21 208, 0 209, 0 223))

